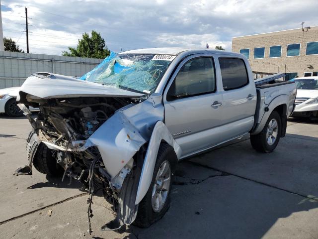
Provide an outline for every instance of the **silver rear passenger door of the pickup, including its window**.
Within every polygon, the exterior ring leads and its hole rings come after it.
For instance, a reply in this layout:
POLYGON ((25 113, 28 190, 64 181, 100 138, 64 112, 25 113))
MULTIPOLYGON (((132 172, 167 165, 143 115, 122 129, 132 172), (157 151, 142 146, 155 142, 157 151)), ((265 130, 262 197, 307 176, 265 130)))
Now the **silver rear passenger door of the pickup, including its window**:
POLYGON ((223 103, 222 124, 226 125, 224 137, 231 139, 248 132, 254 122, 256 89, 248 66, 243 59, 220 56, 223 103))

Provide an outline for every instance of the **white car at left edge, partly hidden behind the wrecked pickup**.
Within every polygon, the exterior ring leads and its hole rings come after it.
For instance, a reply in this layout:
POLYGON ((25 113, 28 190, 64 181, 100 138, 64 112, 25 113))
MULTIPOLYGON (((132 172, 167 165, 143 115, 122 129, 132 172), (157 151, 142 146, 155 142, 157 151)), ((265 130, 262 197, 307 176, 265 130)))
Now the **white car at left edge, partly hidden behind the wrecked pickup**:
POLYGON ((20 87, 0 89, 0 113, 9 117, 21 117, 23 112, 16 105, 16 96, 20 87))

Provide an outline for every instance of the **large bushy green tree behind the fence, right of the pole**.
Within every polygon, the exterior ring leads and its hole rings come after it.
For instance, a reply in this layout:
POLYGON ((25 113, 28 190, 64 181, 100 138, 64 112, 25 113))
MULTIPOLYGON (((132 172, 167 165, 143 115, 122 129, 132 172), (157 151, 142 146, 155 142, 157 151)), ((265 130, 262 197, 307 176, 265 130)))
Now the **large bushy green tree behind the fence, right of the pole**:
POLYGON ((62 55, 103 59, 110 54, 105 40, 100 36, 100 33, 94 30, 91 31, 91 37, 88 33, 83 33, 78 46, 76 48, 69 47, 69 51, 63 51, 62 55))

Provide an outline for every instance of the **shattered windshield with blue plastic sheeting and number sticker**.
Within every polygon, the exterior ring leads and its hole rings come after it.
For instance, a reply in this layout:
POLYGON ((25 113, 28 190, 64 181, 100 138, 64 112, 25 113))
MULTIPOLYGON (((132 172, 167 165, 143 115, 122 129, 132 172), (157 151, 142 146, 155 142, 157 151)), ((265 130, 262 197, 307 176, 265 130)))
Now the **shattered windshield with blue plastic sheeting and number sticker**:
POLYGON ((118 54, 86 76, 86 81, 151 94, 175 56, 118 54))

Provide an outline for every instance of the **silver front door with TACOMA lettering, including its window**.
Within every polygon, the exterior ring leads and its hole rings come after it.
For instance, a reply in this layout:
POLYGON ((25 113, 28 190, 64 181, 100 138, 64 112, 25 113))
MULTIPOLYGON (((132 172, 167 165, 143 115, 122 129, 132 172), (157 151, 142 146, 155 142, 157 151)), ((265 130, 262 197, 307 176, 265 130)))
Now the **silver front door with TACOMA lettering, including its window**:
POLYGON ((215 143, 211 129, 222 119, 222 93, 217 84, 213 57, 194 55, 180 63, 167 85, 164 122, 180 145, 182 157, 215 143))

